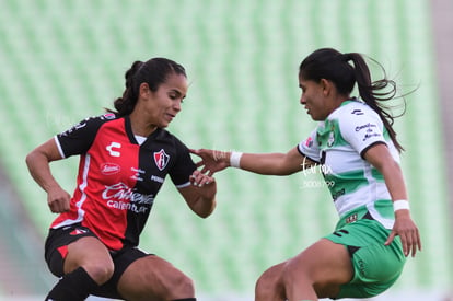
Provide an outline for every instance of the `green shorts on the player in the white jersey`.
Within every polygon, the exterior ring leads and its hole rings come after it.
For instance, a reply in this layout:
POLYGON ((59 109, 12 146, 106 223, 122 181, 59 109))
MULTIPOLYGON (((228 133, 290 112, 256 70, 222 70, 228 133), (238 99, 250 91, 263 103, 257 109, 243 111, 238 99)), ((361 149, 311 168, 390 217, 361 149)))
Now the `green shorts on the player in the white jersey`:
POLYGON ((371 298, 388 289, 403 271, 406 257, 399 238, 384 245, 391 230, 372 219, 347 223, 325 236, 348 250, 353 266, 353 278, 342 285, 335 299, 371 298))

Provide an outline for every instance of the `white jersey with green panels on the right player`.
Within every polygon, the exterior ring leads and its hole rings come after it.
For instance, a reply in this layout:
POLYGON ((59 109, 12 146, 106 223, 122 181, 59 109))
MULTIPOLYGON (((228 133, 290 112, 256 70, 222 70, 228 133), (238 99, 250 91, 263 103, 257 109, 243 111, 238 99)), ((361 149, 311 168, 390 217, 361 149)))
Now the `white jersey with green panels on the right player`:
POLYGON ((352 99, 321 121, 298 149, 322 164, 321 171, 340 218, 367 208, 373 219, 392 229, 393 205, 384 177, 362 157, 376 143, 386 144, 399 163, 398 151, 378 113, 352 99))

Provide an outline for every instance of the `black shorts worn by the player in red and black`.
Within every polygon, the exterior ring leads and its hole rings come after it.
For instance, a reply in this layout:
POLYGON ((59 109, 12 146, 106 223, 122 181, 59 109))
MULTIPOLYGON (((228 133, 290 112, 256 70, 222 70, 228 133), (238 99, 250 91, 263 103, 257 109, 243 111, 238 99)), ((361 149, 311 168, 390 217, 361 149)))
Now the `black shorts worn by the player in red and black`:
MULTIPOLYGON (((93 236, 97 239, 97 236, 89 228, 80 224, 72 224, 49 230, 45 244, 44 257, 49 270, 55 276, 62 277, 65 275, 63 263, 66 255, 68 254, 68 245, 85 236, 93 236)), ((123 299, 117 290, 117 285, 123 273, 135 261, 152 254, 147 254, 133 246, 125 246, 119 251, 111 251, 111 255, 115 265, 114 274, 107 282, 98 287, 98 289, 92 292, 92 294, 123 299)))

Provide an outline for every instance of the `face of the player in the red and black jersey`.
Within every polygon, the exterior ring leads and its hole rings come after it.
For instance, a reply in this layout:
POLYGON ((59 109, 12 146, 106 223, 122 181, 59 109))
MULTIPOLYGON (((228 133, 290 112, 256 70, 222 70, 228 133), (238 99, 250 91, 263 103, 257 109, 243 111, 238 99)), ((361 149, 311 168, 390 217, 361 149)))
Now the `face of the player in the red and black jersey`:
POLYGON ((159 85, 158 91, 150 91, 150 102, 147 105, 150 121, 160 128, 167 127, 182 111, 186 94, 186 77, 176 73, 170 74, 166 81, 159 85))

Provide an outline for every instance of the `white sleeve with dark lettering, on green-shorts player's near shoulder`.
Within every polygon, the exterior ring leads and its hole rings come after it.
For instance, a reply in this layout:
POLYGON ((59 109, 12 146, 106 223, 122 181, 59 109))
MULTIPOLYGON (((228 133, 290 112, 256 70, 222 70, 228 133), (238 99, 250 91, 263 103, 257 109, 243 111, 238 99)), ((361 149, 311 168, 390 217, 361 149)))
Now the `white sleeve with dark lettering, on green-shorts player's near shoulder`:
POLYGON ((376 143, 386 144, 383 123, 371 108, 355 109, 344 116, 339 119, 341 136, 361 157, 376 143))

